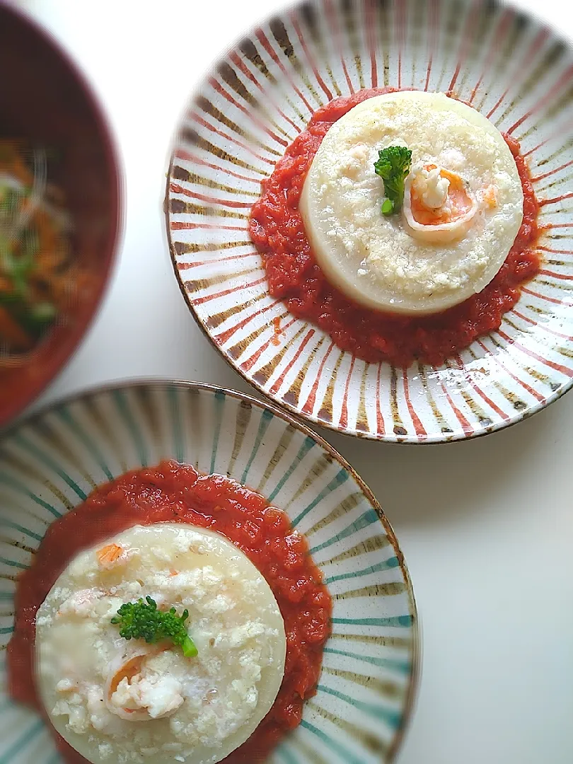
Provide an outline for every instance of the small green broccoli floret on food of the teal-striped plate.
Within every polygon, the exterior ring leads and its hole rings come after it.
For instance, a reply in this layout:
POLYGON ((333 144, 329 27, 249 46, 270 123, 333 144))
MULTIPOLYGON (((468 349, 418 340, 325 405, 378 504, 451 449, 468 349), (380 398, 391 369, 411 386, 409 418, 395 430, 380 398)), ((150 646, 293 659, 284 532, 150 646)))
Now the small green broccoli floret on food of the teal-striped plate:
POLYGON ((167 612, 157 610, 157 604, 151 597, 121 605, 118 615, 112 623, 119 626, 119 633, 124 639, 145 639, 149 644, 170 639, 174 645, 180 645, 186 658, 195 658, 197 648, 187 633, 185 621, 189 610, 183 610, 178 616, 174 607, 167 612))

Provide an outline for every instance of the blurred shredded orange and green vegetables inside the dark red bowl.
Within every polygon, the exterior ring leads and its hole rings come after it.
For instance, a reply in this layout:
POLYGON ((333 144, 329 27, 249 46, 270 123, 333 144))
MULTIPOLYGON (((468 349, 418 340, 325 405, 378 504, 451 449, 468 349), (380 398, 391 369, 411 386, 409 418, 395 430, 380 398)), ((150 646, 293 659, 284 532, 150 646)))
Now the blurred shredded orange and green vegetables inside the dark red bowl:
POLYGON ((44 151, 0 141, 0 358, 31 351, 70 294, 70 221, 44 151))

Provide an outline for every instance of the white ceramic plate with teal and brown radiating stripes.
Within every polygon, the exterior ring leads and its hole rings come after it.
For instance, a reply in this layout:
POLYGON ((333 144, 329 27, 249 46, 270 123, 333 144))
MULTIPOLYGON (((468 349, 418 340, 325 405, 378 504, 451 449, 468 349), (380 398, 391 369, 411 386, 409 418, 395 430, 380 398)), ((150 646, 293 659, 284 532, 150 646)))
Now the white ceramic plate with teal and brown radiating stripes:
MULTIPOLYGON (((0 443, 0 645, 13 631, 18 571, 50 523, 96 486, 164 458, 227 474, 285 510, 332 594, 317 694, 272 764, 393 759, 416 684, 418 623, 403 555, 380 506, 334 449, 240 393, 151 382, 85 393, 0 443)), ((0 762, 55 764, 44 722, 11 702, 0 664, 0 762)))

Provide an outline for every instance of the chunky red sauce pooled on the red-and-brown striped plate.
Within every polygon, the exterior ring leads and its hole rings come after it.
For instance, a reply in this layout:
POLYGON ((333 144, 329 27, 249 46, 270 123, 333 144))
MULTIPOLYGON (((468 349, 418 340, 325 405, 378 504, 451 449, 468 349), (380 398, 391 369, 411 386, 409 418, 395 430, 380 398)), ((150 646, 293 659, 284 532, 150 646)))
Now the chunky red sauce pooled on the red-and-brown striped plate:
POLYGON ((523 223, 494 280, 465 303, 422 318, 377 312, 351 302, 326 280, 316 263, 299 199, 312 159, 332 124, 358 103, 391 90, 361 90, 319 108, 264 181, 261 198, 251 211, 249 231, 264 259, 270 295, 284 300, 294 316, 318 325, 339 348, 364 361, 407 367, 419 358, 439 365, 475 338, 498 329, 503 313, 520 299, 520 285, 539 270, 539 254, 533 251, 539 205, 520 144, 504 135, 523 186, 523 223))

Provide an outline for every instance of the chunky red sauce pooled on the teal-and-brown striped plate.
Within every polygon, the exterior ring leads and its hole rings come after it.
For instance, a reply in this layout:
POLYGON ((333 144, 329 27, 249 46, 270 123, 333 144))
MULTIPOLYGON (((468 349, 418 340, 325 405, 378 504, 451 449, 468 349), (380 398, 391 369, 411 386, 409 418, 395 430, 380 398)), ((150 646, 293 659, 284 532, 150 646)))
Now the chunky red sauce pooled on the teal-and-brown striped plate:
MULTIPOLYGON (((286 631, 283 683, 257 730, 225 764, 264 759, 299 724, 303 702, 315 694, 329 636, 331 597, 306 539, 293 531, 286 513, 230 478, 198 474, 173 461, 128 472, 97 488, 47 529, 31 567, 18 581, 15 633, 8 645, 11 697, 42 710, 34 679, 36 612, 70 560, 131 526, 164 522, 193 523, 231 539, 261 571, 277 599, 286 631)), ((86 764, 60 736, 58 745, 68 764, 86 764)))

